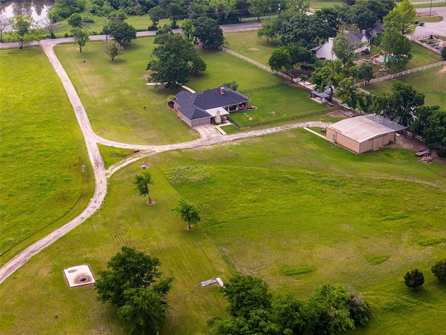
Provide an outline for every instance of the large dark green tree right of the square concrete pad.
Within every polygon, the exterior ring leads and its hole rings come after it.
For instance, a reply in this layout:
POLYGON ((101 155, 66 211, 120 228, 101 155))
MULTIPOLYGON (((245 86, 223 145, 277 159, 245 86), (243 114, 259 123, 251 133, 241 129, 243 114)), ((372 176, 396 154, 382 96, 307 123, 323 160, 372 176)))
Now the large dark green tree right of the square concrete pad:
POLYGON ((158 258, 123 246, 98 271, 95 290, 98 300, 118 308, 130 334, 157 334, 167 318, 167 293, 173 278, 161 278, 158 258))

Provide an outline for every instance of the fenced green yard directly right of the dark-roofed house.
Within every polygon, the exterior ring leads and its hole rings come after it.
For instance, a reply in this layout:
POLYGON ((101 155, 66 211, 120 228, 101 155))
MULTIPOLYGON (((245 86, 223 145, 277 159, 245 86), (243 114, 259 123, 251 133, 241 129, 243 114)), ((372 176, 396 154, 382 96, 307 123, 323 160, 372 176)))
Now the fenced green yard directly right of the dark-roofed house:
POLYGON ((241 127, 297 117, 310 112, 328 112, 328 107, 325 104, 309 99, 309 91, 305 89, 278 87, 247 95, 251 99, 249 105, 256 106, 257 109, 231 113, 231 120, 241 127))

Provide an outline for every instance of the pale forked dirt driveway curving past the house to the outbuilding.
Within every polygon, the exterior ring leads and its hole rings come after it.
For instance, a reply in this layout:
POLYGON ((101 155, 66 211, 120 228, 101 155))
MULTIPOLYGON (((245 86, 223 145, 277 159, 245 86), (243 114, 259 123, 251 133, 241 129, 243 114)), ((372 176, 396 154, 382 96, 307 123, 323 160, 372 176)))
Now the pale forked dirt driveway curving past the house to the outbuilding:
POLYGON ((9 260, 3 267, 0 269, 0 283, 8 278, 11 274, 13 274, 17 269, 19 269, 26 261, 28 261, 33 255, 39 253, 43 248, 49 246, 54 241, 62 237, 70 230, 77 227, 77 225, 83 223, 87 218, 91 216, 95 212, 96 209, 100 207, 102 201, 105 198, 105 194, 107 193, 107 178, 111 177, 114 172, 120 170, 121 168, 138 161, 139 159, 148 156, 150 154, 159 153, 163 151, 170 151, 176 149, 189 149, 189 148, 197 148, 203 147, 206 145, 217 144, 222 142, 230 142, 234 140, 240 140, 247 137, 261 136, 270 133, 277 133, 279 131, 285 131, 292 128, 302 128, 305 126, 315 126, 315 127, 326 127, 328 124, 323 122, 306 122, 301 124, 290 124, 282 127, 269 128, 260 131, 249 131, 247 133, 239 133, 233 135, 222 135, 220 134, 213 126, 206 125, 197 127, 197 130, 201 134, 201 138, 198 140, 194 140, 191 142, 183 142, 177 144, 167 144, 167 145, 134 145, 127 144, 121 142, 114 142, 111 140, 106 140, 102 137, 99 137, 93 132, 93 128, 91 128, 91 124, 89 118, 86 114, 84 106, 82 105, 79 96, 75 90, 75 87, 72 85, 70 78, 68 77, 66 71, 63 69, 62 64, 59 59, 57 59, 56 54, 54 53, 54 45, 61 43, 60 40, 45 40, 45 43, 42 43, 43 50, 49 61, 54 66, 54 70, 61 78, 63 87, 65 88, 68 98, 72 104, 72 107, 75 110, 75 114, 77 117, 77 121, 79 122, 79 126, 81 127, 82 134, 84 135, 84 139, 86 142, 86 147, 89 152, 89 157, 91 164, 93 165, 93 171, 95 175, 95 193, 93 198, 91 198, 88 206, 84 211, 82 211, 79 216, 75 219, 66 223, 61 228, 54 230, 51 234, 48 234, 43 239, 40 239, 36 243, 32 244, 24 251, 16 255, 14 258, 9 260), (130 148, 130 149, 141 149, 147 150, 137 156, 126 159, 119 163, 113 165, 109 170, 105 170, 104 161, 100 156, 100 152, 98 149, 98 143, 105 144, 114 147, 120 148, 130 148))

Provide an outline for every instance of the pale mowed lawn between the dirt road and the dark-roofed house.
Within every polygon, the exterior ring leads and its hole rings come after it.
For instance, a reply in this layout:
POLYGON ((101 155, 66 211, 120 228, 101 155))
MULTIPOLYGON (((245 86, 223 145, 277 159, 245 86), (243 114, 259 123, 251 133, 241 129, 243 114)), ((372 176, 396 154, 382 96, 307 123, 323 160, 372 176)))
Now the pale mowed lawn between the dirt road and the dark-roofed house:
POLYGON ((87 43, 82 53, 72 44, 54 48, 96 134, 135 144, 196 138, 197 134, 178 121, 166 105, 167 96, 178 91, 146 85, 146 66, 154 46, 153 38, 138 38, 125 44, 124 53, 115 61, 105 54, 103 41, 87 43))

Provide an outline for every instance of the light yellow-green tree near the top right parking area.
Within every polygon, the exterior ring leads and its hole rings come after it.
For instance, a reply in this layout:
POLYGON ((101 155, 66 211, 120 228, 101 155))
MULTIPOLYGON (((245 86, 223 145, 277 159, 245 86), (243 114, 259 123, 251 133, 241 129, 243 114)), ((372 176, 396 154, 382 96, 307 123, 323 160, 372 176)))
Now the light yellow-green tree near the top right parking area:
POLYGON ((417 10, 409 0, 403 0, 383 18, 385 28, 395 28, 401 34, 413 34, 415 31, 417 10))

